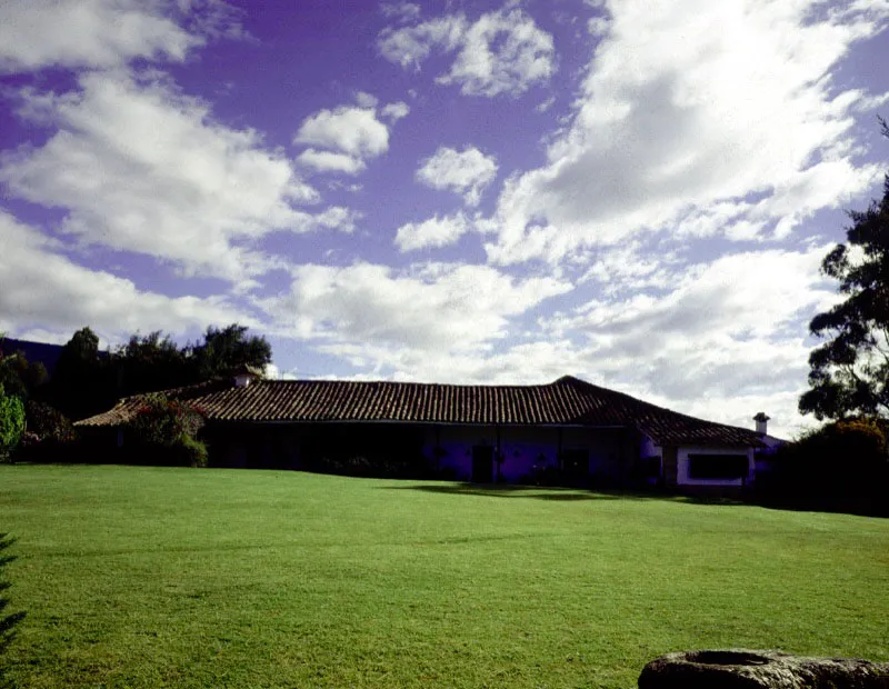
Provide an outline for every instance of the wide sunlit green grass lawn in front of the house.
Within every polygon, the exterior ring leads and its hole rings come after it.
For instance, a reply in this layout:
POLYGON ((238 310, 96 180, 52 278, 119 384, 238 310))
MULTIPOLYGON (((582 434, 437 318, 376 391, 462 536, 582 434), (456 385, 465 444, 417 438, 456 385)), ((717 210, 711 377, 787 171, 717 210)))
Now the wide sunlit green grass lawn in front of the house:
POLYGON ((889 520, 283 471, 0 467, 41 687, 621 687, 669 650, 889 660, 889 520))

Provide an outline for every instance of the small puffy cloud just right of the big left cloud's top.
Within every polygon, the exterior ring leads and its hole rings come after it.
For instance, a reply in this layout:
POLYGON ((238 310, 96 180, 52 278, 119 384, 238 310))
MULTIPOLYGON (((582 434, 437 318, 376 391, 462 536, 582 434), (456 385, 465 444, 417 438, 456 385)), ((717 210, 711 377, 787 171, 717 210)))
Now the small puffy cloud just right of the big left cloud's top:
MULTIPOLYGON (((293 143, 312 148, 303 151, 299 161, 319 172, 356 174, 366 167, 366 160, 389 150, 389 127, 377 117, 377 100, 368 93, 359 96, 364 104, 340 106, 320 110, 306 118, 293 137, 293 143), (317 150, 317 148, 327 150, 317 150)), ((391 122, 409 111, 406 103, 389 103, 381 114, 391 122)))

